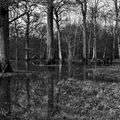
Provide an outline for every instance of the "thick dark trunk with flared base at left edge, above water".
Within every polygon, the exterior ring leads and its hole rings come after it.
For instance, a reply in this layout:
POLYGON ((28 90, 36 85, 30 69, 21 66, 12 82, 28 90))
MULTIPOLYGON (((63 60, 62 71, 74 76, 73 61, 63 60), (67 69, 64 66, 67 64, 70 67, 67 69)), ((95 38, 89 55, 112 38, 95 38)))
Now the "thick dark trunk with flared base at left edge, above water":
POLYGON ((9 17, 8 8, 0 6, 0 71, 11 72, 9 60, 9 17))

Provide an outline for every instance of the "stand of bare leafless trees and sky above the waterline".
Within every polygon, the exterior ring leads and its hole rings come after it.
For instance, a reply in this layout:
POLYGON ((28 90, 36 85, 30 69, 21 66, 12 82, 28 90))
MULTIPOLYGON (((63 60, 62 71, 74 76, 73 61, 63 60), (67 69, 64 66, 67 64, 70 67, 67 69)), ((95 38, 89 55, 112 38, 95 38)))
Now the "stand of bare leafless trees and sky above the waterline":
POLYGON ((1 0, 1 71, 10 71, 9 61, 19 60, 111 63, 120 57, 119 4, 119 0, 1 0))

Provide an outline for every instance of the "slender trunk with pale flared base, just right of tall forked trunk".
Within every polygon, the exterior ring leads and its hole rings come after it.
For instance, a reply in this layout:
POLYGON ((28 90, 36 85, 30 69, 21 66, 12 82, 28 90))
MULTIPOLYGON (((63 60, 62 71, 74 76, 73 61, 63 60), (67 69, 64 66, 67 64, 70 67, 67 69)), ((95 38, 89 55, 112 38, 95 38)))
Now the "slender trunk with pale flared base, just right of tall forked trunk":
POLYGON ((93 60, 97 59, 97 51, 96 51, 96 16, 94 16, 94 38, 93 38, 93 60))

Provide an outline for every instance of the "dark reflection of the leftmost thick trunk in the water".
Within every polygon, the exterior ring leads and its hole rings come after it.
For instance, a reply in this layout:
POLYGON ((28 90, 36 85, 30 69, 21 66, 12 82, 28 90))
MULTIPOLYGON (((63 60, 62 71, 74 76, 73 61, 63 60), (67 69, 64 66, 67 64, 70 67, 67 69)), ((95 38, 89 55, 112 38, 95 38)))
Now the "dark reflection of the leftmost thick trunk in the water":
POLYGON ((0 78, 0 118, 9 120, 11 116, 10 79, 0 78))

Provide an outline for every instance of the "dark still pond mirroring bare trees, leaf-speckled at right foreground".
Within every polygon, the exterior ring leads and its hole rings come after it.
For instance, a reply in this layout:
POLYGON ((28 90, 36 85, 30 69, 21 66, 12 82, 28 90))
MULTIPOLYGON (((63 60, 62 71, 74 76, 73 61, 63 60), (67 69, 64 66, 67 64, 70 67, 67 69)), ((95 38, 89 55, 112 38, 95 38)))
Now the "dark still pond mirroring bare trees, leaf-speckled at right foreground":
POLYGON ((0 78, 1 120, 120 119, 119 82, 99 79, 80 64, 29 70, 0 78))

